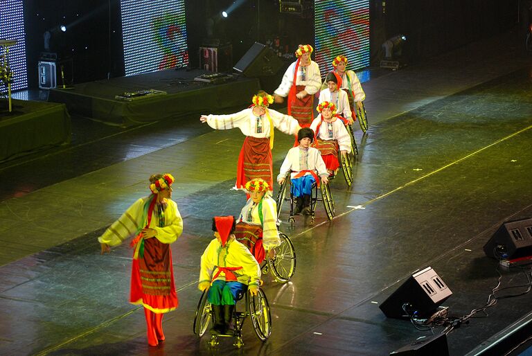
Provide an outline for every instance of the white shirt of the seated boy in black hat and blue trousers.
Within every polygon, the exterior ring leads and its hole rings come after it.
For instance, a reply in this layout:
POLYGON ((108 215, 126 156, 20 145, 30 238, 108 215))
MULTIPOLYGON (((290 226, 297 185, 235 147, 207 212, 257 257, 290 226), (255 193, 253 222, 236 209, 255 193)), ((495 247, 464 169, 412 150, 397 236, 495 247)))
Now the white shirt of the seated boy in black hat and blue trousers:
MULTIPOLYGON (((301 170, 317 170, 318 175, 324 177, 329 175, 319 150, 313 147, 304 149, 298 146, 288 150, 277 180, 285 177, 288 172, 292 172, 290 177, 293 178, 301 170)), ((310 172, 306 172, 305 175, 310 175, 310 172)))

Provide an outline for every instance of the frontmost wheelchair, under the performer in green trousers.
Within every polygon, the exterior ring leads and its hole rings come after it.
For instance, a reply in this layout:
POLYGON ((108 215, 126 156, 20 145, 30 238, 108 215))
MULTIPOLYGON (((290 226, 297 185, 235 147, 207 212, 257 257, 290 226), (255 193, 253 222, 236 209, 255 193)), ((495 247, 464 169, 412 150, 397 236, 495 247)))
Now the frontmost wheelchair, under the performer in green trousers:
MULTIPOLYGON (((233 330, 229 330, 227 335, 212 335, 209 345, 214 347, 220 344, 220 337, 234 337, 233 346, 241 348, 244 345, 242 325, 247 317, 251 318, 255 335, 260 341, 265 342, 272 334, 272 315, 269 311, 266 295, 260 288, 256 296, 252 296, 249 290, 238 295, 233 312, 233 330), (245 299, 245 310, 238 311, 238 301, 241 299, 245 299)), ((209 328, 211 321, 213 321, 213 310, 211 303, 207 300, 207 291, 205 291, 197 303, 193 326, 194 334, 202 337, 209 328)))

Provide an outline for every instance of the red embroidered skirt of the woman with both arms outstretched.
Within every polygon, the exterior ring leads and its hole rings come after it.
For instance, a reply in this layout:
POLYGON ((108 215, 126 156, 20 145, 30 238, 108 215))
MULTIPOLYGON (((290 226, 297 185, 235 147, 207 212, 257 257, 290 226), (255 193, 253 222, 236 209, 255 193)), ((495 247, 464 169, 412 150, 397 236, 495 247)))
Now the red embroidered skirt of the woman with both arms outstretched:
POLYGON ((262 178, 273 190, 272 177, 272 150, 269 148, 269 137, 257 139, 246 136, 236 172, 236 188, 245 188, 248 181, 254 178, 262 178))

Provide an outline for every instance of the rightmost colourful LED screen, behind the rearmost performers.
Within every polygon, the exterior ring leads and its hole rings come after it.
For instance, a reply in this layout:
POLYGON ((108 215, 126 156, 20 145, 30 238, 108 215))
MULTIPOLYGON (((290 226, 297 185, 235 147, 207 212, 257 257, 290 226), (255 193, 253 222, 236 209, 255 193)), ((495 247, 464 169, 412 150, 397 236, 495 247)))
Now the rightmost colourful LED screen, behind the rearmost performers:
POLYGON ((348 58, 348 69, 369 66, 369 0, 316 0, 314 27, 314 57, 323 76, 337 55, 348 58))

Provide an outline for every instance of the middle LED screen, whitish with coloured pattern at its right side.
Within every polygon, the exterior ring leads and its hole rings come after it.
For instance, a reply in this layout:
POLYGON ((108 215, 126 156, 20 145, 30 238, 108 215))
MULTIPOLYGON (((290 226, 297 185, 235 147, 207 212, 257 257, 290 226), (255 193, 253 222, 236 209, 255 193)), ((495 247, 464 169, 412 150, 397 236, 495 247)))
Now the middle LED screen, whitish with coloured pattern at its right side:
POLYGON ((184 0, 121 0, 125 75, 188 64, 184 0))

